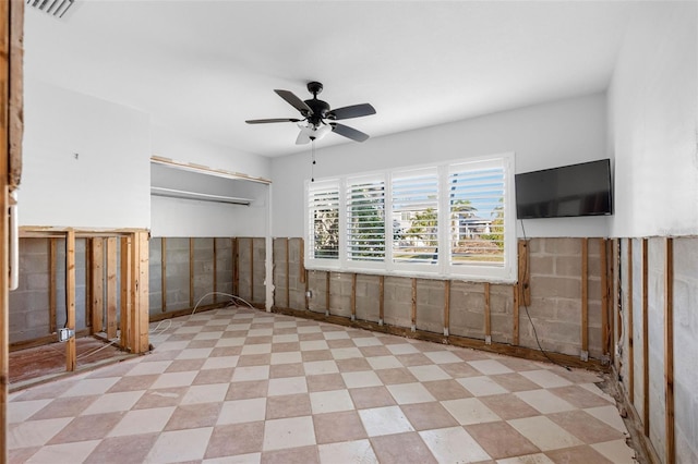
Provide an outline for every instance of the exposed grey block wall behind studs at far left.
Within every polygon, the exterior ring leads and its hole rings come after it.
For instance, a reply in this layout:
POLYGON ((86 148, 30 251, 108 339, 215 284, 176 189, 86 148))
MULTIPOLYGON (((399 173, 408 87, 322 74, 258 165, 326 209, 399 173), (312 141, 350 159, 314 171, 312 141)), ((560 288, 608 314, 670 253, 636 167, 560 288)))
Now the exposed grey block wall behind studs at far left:
MULTIPOLYGON (((65 323, 65 240, 20 239, 20 286, 9 294, 10 343, 50 335, 50 241, 56 242, 56 320, 65 323)), ((75 240, 75 329, 86 328, 86 239, 75 240)))

